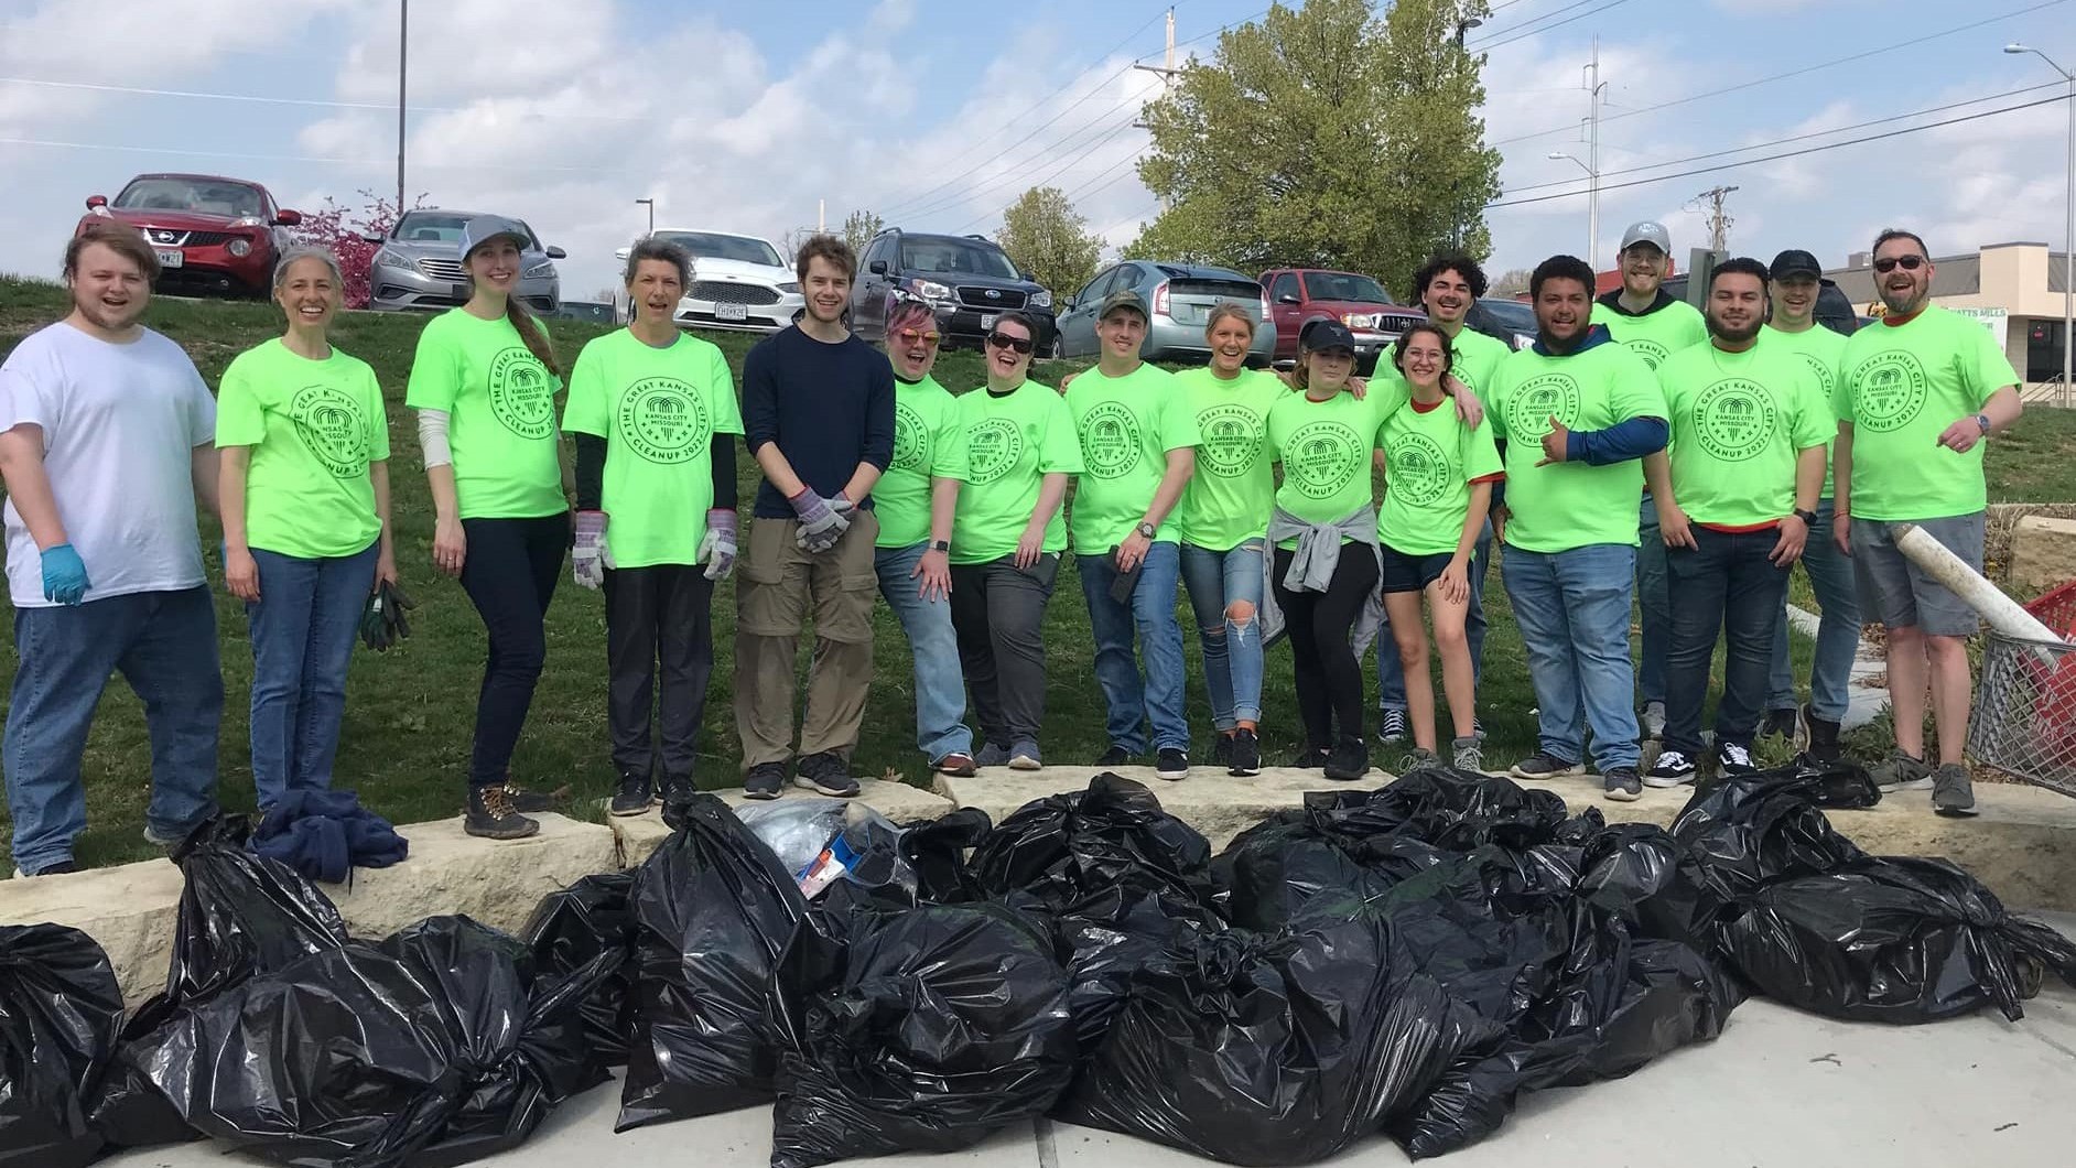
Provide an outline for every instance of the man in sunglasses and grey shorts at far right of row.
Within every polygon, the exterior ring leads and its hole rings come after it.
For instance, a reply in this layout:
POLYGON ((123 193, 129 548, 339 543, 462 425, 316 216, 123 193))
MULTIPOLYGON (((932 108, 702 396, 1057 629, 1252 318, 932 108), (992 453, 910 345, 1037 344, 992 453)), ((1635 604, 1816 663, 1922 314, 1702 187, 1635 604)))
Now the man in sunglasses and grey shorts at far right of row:
POLYGON ((1883 790, 1931 788, 1941 815, 1974 815, 1962 747, 1976 612, 1912 564, 1895 535, 1916 525, 1983 571, 1983 440, 2018 421, 2018 371, 1983 326, 1931 303, 1933 261, 1914 232, 1875 239, 1875 288, 1889 311, 1852 334, 1839 361, 1831 496, 1860 612, 1887 629, 1895 753, 1873 774, 1883 790), (1924 757, 1927 685, 1937 768, 1924 757))

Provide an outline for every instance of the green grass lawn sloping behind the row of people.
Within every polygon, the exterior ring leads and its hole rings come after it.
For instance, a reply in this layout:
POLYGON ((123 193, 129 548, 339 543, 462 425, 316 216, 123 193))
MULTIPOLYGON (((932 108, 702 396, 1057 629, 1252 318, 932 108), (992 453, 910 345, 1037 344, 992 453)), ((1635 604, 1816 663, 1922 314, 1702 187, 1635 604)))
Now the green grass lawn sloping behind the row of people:
MULTIPOLYGON (((15 344, 66 311, 64 290, 56 284, 0 278, 0 359, 15 344)), ((417 456, 417 436, 411 413, 403 409, 403 388, 411 365, 417 332, 426 317, 347 313, 332 338, 355 357, 372 363, 390 402, 390 481, 394 485, 397 562, 405 589, 419 602, 411 616, 413 637, 388 653, 357 651, 347 687, 347 718, 338 751, 336 778, 353 786, 363 801, 399 824, 459 813, 469 757, 475 689, 482 678, 484 633, 461 585, 432 571, 432 500, 426 492, 424 467, 417 456)), ((145 324, 179 340, 203 378, 214 386, 230 359, 280 332, 280 313, 270 303, 195 303, 160 301, 145 324)), ((598 326, 552 322, 556 351, 565 361, 577 349, 604 332, 598 326)), ((729 355, 735 371, 756 340, 745 334, 708 334, 729 355)), ((1073 363, 1040 363, 1034 378, 1057 382, 1073 363)), ((982 382, 976 353, 945 353, 936 367, 938 380, 953 392, 982 382)), ((2076 498, 2076 469, 2068 458, 2076 450, 2076 417, 2037 411, 2020 423, 2020 440, 1991 446, 1991 483, 1997 498, 2076 498), (2010 454, 2007 454, 2010 450, 2010 454), (2059 454, 2055 452, 2059 450, 2059 454), (2024 471, 2010 461, 2020 452, 2028 458, 2024 471), (2049 477, 2053 475, 2053 477, 2049 477)), ((754 463, 741 458, 743 500, 754 490, 754 463)), ((233 809, 253 805, 247 751, 247 703, 251 693, 251 647, 245 637, 241 604, 222 591, 216 564, 214 521, 203 521, 212 583, 218 589, 218 624, 224 668, 222 726, 222 799, 233 809)), ((1522 643, 1513 631, 1505 591, 1495 566, 1486 587, 1486 614, 1493 631, 1486 641, 1484 691, 1480 707, 1491 741, 1491 766, 1511 763, 1534 747, 1534 693, 1528 685, 1522 643)), ((1190 712, 1196 728, 1196 755, 1210 745, 1210 716, 1196 666, 1194 622, 1183 610, 1183 627, 1192 656, 1190 712)), ((876 612, 878 676, 866 707, 866 734, 857 747, 855 772, 899 776, 924 784, 924 759, 913 745, 916 705, 907 643, 884 606, 876 612)), ((714 683, 708 691, 706 734, 702 739, 700 780, 706 786, 739 784, 735 724, 729 707, 733 693, 735 591, 722 585, 714 595, 714 683)), ((0 633, 12 647, 12 624, 0 633)), ((1046 695, 1046 759, 1084 763, 1104 749, 1102 695, 1094 685, 1088 614, 1080 581, 1069 566, 1061 571, 1053 606, 1046 614, 1046 645, 1050 689, 1046 695)), ((805 672, 812 639, 801 645, 805 672)), ((1806 676, 1808 643, 1796 641, 1796 670, 1806 676)), ((12 656, 12 653, 8 653, 12 656)), ((1370 678, 1374 705, 1374 670, 1370 678)), ((612 782, 606 739, 606 651, 602 597, 577 589, 567 575, 548 614, 548 668, 534 699, 513 776, 536 788, 569 786, 581 797, 604 797, 612 782)), ((1268 761, 1287 761, 1302 745, 1298 707, 1291 693, 1291 660, 1285 645, 1268 656, 1264 693, 1264 751, 1268 761)), ((1439 678, 1437 678, 1439 689, 1439 678)), ((1447 718, 1447 716, 1445 716, 1447 718)), ((1447 724, 1447 722, 1445 722, 1447 724)), ((1376 757, 1395 763, 1397 757, 1376 757)), ((137 699, 120 683, 108 687, 102 712, 87 743, 85 780, 91 828, 79 842, 79 861, 87 865, 118 863, 154 855, 141 840, 143 805, 147 799, 149 751, 137 699)), ((1225 782, 1208 778, 1208 782, 1225 782)), ((579 813, 594 813, 577 805, 579 813)), ((0 832, 0 871, 12 861, 0 832)))

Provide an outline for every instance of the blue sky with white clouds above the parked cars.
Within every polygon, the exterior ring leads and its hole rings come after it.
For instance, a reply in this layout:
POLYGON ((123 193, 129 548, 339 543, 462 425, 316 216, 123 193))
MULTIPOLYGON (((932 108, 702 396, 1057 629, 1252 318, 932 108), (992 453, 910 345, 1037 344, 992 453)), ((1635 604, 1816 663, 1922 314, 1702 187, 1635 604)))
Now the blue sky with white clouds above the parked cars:
MULTIPOLYGON (((409 191, 527 218, 569 249, 565 295, 610 280, 646 224, 781 239, 870 207, 911 230, 992 232, 1063 187, 1113 245, 1154 214, 1131 127, 1156 87, 1163 0, 704 4, 419 0, 409 191), (994 12, 1013 10, 1015 19, 994 12)), ((397 0, 0 0, 0 270, 54 274, 81 201, 145 170, 266 183, 291 207, 394 191, 397 0)), ((1181 54, 1262 0, 1175 4, 1181 54)), ((1582 66, 1601 41, 1601 255, 1740 187, 1731 247, 1827 263, 1910 224, 1935 253, 2061 243, 2066 104, 2024 39, 2076 68, 2076 4, 1983 0, 1495 0, 1486 139, 1507 195, 1491 268, 1586 253, 1582 66), (1972 25, 1972 27, 1966 27, 1972 25), (2045 102, 1970 118, 1985 110, 2045 102), (1773 154, 1891 133, 1941 129, 1773 154), (1769 145, 1777 143, 1777 145, 1769 145), (1706 174, 1646 183, 1686 170, 1706 174), (1619 187, 1617 185, 1628 185, 1619 187)))

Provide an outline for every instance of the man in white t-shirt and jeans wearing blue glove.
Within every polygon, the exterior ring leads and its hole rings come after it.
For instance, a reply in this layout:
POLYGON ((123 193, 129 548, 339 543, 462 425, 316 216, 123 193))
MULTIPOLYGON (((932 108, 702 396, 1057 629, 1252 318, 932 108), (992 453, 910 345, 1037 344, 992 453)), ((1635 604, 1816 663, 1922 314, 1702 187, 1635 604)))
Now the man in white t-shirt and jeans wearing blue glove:
POLYGON ((79 757, 108 674, 152 732, 145 838, 216 813, 224 680, 195 500, 216 510, 216 402, 179 344, 137 324, 158 257, 127 224, 64 249, 73 313, 0 365, 6 579, 21 668, 8 703, 8 809, 23 875, 77 871, 79 757))

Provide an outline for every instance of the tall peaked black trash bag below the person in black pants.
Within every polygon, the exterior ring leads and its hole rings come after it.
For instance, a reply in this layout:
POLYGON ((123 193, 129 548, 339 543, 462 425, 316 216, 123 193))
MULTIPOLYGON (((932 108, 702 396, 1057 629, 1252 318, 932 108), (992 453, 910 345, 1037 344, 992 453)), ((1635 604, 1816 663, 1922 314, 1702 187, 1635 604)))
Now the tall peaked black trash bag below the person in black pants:
POLYGON ((814 969, 826 940, 793 873, 727 805, 700 795, 677 819, 635 871, 633 1033, 614 1131, 772 1102, 774 975, 789 950, 814 969))

